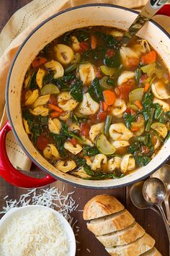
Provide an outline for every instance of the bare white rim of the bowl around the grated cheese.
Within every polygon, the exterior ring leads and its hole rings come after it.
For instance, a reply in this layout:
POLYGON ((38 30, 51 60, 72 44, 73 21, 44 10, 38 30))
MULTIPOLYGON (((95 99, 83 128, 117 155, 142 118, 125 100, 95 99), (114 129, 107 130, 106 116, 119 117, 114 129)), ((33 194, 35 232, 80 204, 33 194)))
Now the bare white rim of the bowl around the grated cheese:
POLYGON ((66 221, 66 218, 64 218, 61 215, 61 213, 58 213, 56 210, 53 210, 51 208, 48 208, 42 205, 27 205, 21 208, 12 208, 11 210, 9 210, 0 220, 0 234, 3 232, 4 228, 9 223, 9 221, 12 221, 12 218, 14 219, 15 216, 19 216, 22 213, 26 213, 28 211, 30 212, 31 210, 34 211, 37 209, 49 210, 50 212, 55 214, 55 216, 58 218, 58 221, 60 221, 62 228, 64 229, 64 231, 68 236, 69 252, 66 256, 75 256, 76 255, 76 239, 70 224, 68 223, 68 221, 66 221))

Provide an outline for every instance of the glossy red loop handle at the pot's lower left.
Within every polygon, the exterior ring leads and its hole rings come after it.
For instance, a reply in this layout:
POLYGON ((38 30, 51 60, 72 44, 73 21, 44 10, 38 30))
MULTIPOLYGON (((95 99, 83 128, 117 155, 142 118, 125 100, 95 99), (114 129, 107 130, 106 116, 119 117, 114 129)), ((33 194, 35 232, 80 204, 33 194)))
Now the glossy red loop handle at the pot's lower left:
POLYGON ((12 127, 10 126, 9 121, 7 121, 0 131, 0 176, 12 185, 24 188, 43 187, 55 182, 56 179, 50 175, 47 175, 42 179, 32 178, 22 174, 12 166, 6 153, 6 135, 11 130, 12 127))

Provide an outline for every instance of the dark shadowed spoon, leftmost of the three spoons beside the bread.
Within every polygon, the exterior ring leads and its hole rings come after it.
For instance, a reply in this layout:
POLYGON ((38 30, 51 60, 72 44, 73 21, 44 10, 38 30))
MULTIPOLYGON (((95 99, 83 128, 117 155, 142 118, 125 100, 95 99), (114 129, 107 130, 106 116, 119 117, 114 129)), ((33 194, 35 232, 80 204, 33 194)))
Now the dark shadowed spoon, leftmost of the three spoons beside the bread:
POLYGON ((154 210, 160 216, 158 210, 156 210, 151 203, 146 202, 145 198, 143 197, 143 184, 144 182, 137 182, 130 187, 130 199, 133 202, 133 205, 139 209, 154 210))

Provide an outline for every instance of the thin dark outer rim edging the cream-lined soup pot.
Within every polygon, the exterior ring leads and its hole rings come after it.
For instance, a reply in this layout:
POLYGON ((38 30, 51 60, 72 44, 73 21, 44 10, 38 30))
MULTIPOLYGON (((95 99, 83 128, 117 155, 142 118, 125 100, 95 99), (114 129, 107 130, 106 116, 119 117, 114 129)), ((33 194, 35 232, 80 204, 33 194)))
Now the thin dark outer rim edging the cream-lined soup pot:
MULTIPOLYGON (((44 20, 43 22, 41 22, 39 25, 37 25, 37 27, 35 27, 34 30, 32 30, 32 32, 27 35, 27 37, 24 39, 23 43, 21 44, 21 46, 19 46, 19 49, 17 50, 17 53, 14 56, 14 59, 12 61, 11 67, 9 69, 9 73, 7 76, 7 80, 6 80, 6 92, 5 92, 5 98, 6 98, 6 112, 7 112, 7 116, 9 119, 9 123, 11 124, 12 127, 12 132, 14 133, 14 136, 17 138, 17 141, 19 142, 19 145, 21 146, 22 150, 24 151, 24 153, 26 153, 26 155, 30 158, 30 160, 35 163, 35 165, 40 168, 40 170, 44 171, 45 173, 50 174, 50 176, 53 176, 55 179, 60 180, 61 182, 66 182, 68 184, 71 184, 72 186, 76 186, 76 187, 81 187, 84 189, 115 189, 118 187, 125 187, 128 186, 130 184, 133 184, 135 182, 139 182, 140 180, 146 179, 149 175, 153 174, 154 171, 158 170, 158 168, 160 168, 164 163, 166 163, 169 160, 169 156, 166 158, 166 160, 164 160, 159 166, 156 166, 156 168, 154 168, 152 171, 149 171, 148 174, 146 174, 145 176, 140 177, 139 179, 135 179, 131 182, 126 182, 124 184, 118 184, 118 185, 113 185, 113 186, 109 186, 109 187, 93 187, 93 186, 89 186, 89 185, 82 185, 82 184, 75 184, 74 182, 70 182, 69 180, 60 178, 58 176, 56 176, 55 174, 51 173, 50 171, 48 171, 48 169, 44 168, 43 166, 41 166, 40 163, 38 163, 35 158, 33 158, 32 155, 30 155, 30 153, 27 151, 27 149, 24 147, 24 145, 22 144, 21 140, 19 139, 19 136, 17 135, 17 132, 14 129, 14 125, 12 123, 12 118, 10 115, 10 111, 9 111, 9 82, 10 82, 10 78, 11 78, 11 74, 12 74, 12 69, 14 67, 15 61, 17 60, 17 57, 19 56, 20 51, 22 50, 22 48, 24 47, 25 43, 27 43, 27 40, 29 40, 31 38, 31 36, 36 33, 37 30, 40 29, 40 27, 42 27, 43 25, 45 25, 45 23, 47 23, 48 21, 52 20, 55 17, 58 17, 59 15, 66 13, 66 12, 71 12, 73 9, 81 9, 81 8, 86 8, 86 7, 113 7, 113 8, 117 8, 117 9, 124 9, 128 12, 133 12, 135 14, 138 14, 139 12, 133 10, 133 9, 129 9, 127 7, 121 7, 119 5, 115 5, 115 4, 82 4, 80 6, 76 6, 76 7, 71 7, 68 9, 65 9, 63 11, 57 12, 55 14, 53 14, 52 16, 48 17, 46 20, 44 20)), ((170 39, 170 35, 169 33, 167 33, 166 30, 164 30, 163 27, 161 27, 161 25, 158 25, 157 22, 150 20, 149 22, 152 22, 154 25, 156 25, 156 27, 158 27, 164 34, 167 35, 167 37, 170 39)))

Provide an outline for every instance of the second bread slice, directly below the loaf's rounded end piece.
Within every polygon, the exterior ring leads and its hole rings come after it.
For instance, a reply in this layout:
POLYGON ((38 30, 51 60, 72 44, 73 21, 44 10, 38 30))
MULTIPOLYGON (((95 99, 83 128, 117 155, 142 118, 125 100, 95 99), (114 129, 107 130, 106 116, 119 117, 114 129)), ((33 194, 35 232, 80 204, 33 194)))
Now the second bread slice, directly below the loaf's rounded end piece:
POLYGON ((96 236, 101 236, 125 229, 134 221, 135 219, 128 212, 128 210, 121 210, 119 213, 113 213, 109 216, 91 220, 89 223, 87 223, 87 228, 96 236))

